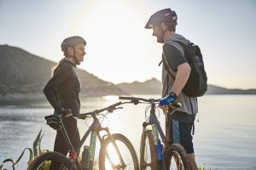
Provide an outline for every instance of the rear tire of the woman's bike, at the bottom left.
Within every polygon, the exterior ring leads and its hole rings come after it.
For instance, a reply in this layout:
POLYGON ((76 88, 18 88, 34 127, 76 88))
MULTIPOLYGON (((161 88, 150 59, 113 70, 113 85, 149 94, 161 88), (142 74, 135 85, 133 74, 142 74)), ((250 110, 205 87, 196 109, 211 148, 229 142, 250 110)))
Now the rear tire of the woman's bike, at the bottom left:
POLYGON ((28 166, 27 170, 48 170, 49 162, 47 161, 56 161, 64 165, 66 168, 62 169, 70 169, 72 167, 72 162, 67 159, 66 156, 62 155, 56 151, 48 151, 39 156, 37 156, 28 166), (46 164, 48 165, 46 165, 46 164), (44 166, 44 167, 43 167, 44 166))

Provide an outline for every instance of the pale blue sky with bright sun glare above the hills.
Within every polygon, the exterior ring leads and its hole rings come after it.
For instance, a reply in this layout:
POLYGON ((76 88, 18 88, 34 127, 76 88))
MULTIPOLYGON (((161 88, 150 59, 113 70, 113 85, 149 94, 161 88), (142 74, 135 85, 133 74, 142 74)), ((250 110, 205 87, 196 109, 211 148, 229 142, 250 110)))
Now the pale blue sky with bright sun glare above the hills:
POLYGON ((57 62, 62 40, 78 35, 87 42, 79 68, 113 83, 161 80, 162 44, 144 26, 163 8, 200 46, 210 84, 256 88, 254 0, 0 0, 0 44, 57 62))

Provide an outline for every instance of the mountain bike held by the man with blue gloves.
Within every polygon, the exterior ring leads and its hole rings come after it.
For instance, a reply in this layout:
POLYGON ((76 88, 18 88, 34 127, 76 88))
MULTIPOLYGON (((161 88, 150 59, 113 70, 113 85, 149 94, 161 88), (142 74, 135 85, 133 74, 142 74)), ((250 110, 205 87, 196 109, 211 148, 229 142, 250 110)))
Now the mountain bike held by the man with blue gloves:
MULTIPOLYGON (((156 104, 160 99, 143 99, 135 97, 119 97, 119 99, 131 100, 131 103, 137 105, 139 103, 150 104, 146 111, 146 122, 143 122, 143 133, 140 145, 140 169, 152 170, 190 170, 191 165, 189 157, 181 144, 172 144, 169 138, 170 126, 166 126, 166 136, 160 127, 160 122, 155 115, 156 104), (150 107, 150 116, 147 117, 147 111, 150 107), (147 127, 151 126, 151 129, 147 127), (161 141, 160 141, 160 138, 161 141), (163 144, 165 147, 163 147, 163 144)), ((173 102, 169 105, 169 110, 174 111, 181 104, 173 102)))

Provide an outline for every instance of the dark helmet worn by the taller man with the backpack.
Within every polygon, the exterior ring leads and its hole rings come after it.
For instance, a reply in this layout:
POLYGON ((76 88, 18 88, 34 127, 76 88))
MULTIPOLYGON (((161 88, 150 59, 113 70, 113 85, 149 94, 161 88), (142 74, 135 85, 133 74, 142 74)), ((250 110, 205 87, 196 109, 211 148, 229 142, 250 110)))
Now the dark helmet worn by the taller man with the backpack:
POLYGON ((172 11, 171 8, 165 8, 152 14, 145 26, 146 29, 151 29, 153 24, 159 24, 160 22, 177 22, 177 14, 172 11))

